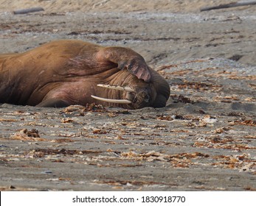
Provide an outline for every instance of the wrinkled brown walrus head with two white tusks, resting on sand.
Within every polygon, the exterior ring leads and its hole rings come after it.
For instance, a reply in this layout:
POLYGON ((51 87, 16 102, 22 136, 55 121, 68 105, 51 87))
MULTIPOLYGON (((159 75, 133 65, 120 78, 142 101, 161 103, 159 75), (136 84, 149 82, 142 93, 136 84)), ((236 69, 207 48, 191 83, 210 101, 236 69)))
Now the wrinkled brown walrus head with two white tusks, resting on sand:
POLYGON ((165 107, 170 96, 170 87, 156 71, 151 70, 150 82, 138 79, 128 71, 118 72, 117 77, 111 79, 108 85, 98 84, 102 88, 100 95, 91 97, 127 109, 165 107))

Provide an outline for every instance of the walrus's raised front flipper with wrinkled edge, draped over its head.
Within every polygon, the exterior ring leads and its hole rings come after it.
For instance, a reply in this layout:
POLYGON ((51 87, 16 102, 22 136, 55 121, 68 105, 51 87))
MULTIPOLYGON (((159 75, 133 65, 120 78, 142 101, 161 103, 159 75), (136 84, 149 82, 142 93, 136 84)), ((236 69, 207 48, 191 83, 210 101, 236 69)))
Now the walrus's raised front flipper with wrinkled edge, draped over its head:
POLYGON ((116 63, 120 70, 127 69, 134 74, 138 79, 143 79, 145 82, 151 81, 151 68, 145 63, 144 58, 135 51, 123 47, 106 47, 102 50, 101 57, 105 57, 108 61, 116 63))

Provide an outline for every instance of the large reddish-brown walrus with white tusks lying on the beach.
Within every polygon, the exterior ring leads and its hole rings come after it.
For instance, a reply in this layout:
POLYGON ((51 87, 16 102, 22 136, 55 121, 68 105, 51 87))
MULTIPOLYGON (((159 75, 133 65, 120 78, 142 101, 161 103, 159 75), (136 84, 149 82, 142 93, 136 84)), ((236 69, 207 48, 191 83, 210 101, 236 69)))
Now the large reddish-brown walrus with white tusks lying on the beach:
POLYGON ((167 81, 136 51, 83 40, 0 54, 0 82, 0 103, 37 107, 165 107, 170 96, 167 81))

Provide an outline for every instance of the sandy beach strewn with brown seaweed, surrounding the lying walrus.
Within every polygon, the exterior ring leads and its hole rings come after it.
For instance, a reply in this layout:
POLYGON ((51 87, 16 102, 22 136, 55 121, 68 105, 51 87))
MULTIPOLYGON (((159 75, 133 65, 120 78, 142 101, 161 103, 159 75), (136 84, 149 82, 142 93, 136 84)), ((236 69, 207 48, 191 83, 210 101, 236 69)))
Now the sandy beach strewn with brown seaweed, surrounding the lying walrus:
POLYGON ((0 0, 1 53, 60 38, 128 46, 171 89, 161 109, 1 104, 1 190, 254 191, 256 7, 128 2, 0 0), (12 13, 29 7, 44 11, 12 13))

